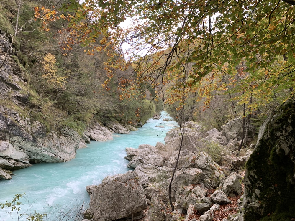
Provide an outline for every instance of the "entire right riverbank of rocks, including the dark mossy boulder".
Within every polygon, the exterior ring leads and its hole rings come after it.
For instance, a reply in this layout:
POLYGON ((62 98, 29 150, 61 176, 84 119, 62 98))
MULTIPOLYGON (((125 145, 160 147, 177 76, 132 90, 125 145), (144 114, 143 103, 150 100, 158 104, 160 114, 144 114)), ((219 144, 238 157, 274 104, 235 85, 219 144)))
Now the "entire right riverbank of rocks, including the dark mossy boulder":
POLYGON ((294 220, 294 110, 294 100, 287 100, 269 116, 253 152, 244 151, 245 156, 226 151, 235 153, 239 143, 238 130, 233 130, 238 118, 222 126, 220 132, 212 129, 204 133, 201 125, 188 122, 173 182, 179 129, 167 133, 165 144, 126 148, 127 166, 134 171, 86 187, 90 208, 84 221, 294 220), (208 141, 226 145, 219 152, 224 166, 209 156, 214 146, 201 151, 208 141), (168 196, 170 182, 173 211, 168 196))

